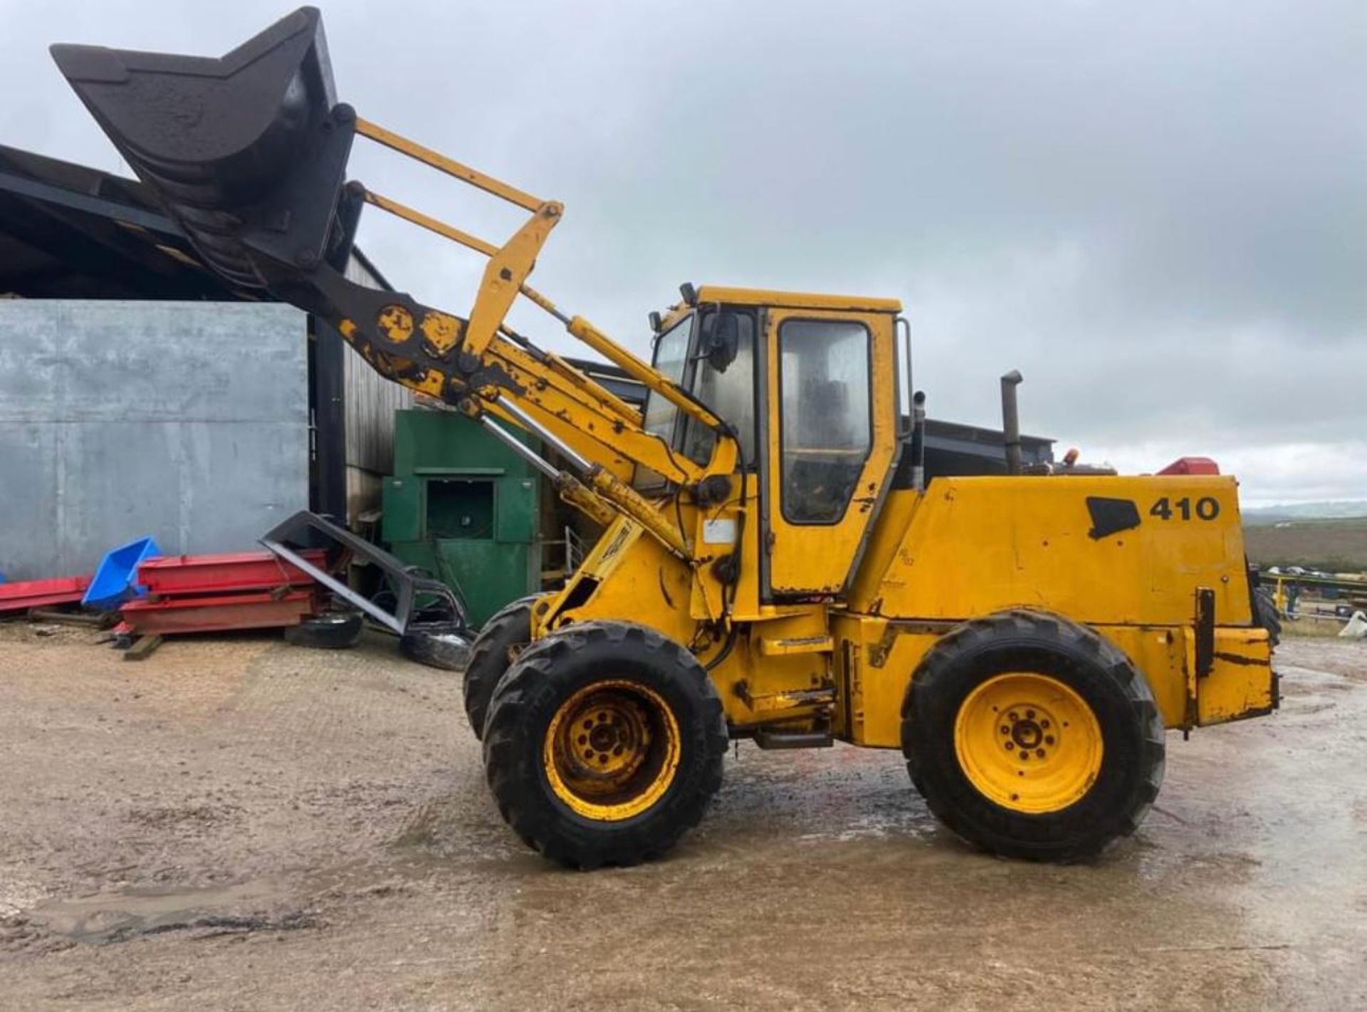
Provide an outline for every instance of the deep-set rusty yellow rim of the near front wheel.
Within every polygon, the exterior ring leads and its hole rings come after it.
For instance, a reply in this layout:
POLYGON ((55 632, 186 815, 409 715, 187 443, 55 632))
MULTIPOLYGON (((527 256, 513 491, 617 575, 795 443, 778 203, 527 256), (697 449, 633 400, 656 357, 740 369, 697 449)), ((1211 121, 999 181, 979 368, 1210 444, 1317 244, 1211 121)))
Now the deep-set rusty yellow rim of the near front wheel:
POLYGON ((659 801, 679 766, 670 704, 634 681, 599 681, 566 699, 545 729, 551 790, 585 818, 619 822, 659 801))

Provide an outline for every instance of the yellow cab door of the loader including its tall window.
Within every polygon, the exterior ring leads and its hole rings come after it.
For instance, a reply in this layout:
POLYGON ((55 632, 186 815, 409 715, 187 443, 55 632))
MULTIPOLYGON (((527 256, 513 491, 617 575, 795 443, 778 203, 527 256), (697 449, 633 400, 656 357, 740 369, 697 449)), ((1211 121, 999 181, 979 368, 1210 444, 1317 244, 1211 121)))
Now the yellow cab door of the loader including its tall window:
POLYGON ((766 313, 767 598, 843 598, 897 450, 891 313, 766 313))

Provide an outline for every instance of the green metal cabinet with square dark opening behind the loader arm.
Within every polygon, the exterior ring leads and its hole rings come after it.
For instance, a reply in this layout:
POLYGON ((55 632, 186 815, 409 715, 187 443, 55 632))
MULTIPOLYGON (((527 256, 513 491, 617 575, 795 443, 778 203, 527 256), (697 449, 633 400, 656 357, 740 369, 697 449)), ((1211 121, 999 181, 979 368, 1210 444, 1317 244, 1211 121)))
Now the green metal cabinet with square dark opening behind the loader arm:
POLYGON ((395 412, 380 536, 459 591, 472 624, 541 588, 540 495, 540 475, 463 414, 395 412))

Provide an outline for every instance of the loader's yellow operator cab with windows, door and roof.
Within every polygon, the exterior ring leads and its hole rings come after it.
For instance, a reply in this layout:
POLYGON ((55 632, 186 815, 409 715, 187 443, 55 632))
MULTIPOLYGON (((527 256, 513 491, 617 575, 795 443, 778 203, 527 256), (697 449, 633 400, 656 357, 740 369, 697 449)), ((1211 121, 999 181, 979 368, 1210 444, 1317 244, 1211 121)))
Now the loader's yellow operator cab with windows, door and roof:
MULTIPOLYGON (((842 596, 897 450, 897 299, 684 286, 653 365, 734 427, 760 503, 763 600, 842 596), (813 558, 819 559, 813 565, 813 558)), ((645 428, 697 464, 716 435, 651 392, 645 428)), ((668 491, 638 468, 636 487, 668 491)))

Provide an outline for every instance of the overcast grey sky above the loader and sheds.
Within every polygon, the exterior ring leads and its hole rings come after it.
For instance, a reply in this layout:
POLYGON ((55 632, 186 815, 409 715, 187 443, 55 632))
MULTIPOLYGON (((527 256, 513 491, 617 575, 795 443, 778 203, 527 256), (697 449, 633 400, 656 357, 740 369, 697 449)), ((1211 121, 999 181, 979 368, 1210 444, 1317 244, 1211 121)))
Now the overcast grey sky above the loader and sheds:
MULTIPOLYGON (((46 45, 221 55, 284 4, 0 0, 0 142, 127 171, 46 45)), ((682 280, 904 299, 935 417, 1245 503, 1367 499, 1367 3, 324 5, 361 115, 566 202, 533 283, 634 350, 682 280)), ((358 142, 373 189, 521 212, 358 142)), ((398 287, 483 261, 368 212, 398 287)), ((539 310, 514 324, 569 349, 539 310)))

